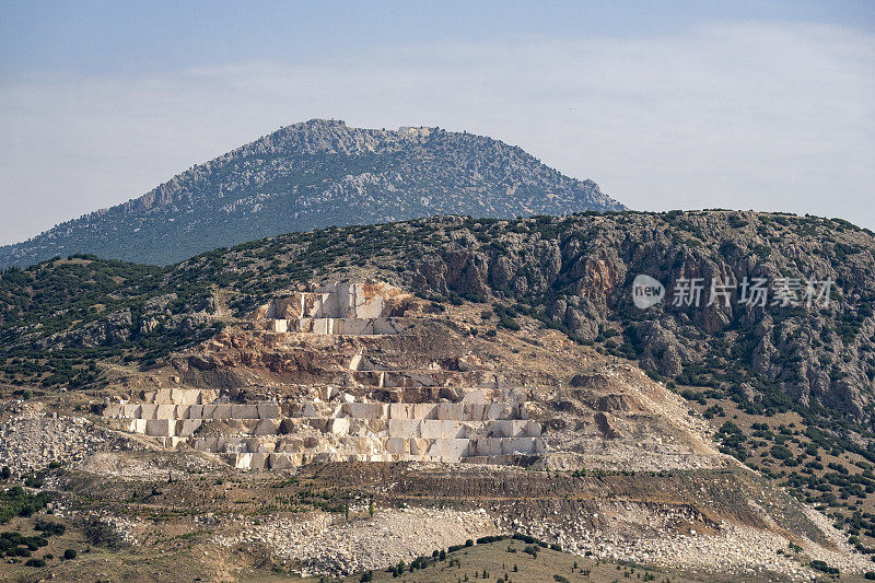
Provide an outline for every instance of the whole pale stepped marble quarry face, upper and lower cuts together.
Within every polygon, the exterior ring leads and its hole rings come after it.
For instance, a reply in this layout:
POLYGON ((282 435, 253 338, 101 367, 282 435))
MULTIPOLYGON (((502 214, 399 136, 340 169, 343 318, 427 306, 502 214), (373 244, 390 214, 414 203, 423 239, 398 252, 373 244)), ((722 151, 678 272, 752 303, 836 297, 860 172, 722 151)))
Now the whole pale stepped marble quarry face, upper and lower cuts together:
MULTIPOLYGON (((402 347, 429 305, 378 282, 313 285, 273 298, 254 314, 257 331, 246 341, 276 348, 293 371, 304 371, 307 384, 276 400, 260 392, 260 401, 230 389, 161 388, 106 403, 103 415, 167 448, 219 454, 242 469, 347 460, 509 464, 544 454, 544 428, 529 418, 528 392, 482 369, 476 355, 452 359, 448 369, 416 357, 381 364, 382 342, 402 347), (326 338, 341 335, 376 338, 326 338), (331 374, 337 381, 328 381, 331 374)), ((240 366, 258 358, 215 361, 240 366)))

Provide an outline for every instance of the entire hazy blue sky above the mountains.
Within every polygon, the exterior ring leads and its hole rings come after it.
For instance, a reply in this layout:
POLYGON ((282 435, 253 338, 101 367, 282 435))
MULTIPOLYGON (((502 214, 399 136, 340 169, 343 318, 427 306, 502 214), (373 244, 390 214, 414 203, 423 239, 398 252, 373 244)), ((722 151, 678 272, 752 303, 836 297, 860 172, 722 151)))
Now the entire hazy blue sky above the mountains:
POLYGON ((0 244, 316 117, 875 229, 875 2, 0 0, 0 244))

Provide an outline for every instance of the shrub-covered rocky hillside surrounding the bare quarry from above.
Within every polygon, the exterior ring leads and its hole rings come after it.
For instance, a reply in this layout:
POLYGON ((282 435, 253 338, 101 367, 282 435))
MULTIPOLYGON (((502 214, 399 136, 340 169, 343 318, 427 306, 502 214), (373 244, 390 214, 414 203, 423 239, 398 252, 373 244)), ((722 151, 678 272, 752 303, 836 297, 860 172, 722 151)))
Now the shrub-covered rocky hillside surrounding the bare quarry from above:
POLYGON ((300 283, 374 277, 440 305, 479 303, 481 335, 529 318, 637 361, 719 430, 725 453, 875 546, 874 276, 868 231, 732 211, 443 217, 292 233, 168 268, 72 257, 0 278, 2 373, 19 394, 106 386, 113 368, 148 374, 300 283), (835 287, 825 306, 742 305, 736 289, 728 306, 642 311, 639 273, 667 294, 682 277, 709 285, 715 273, 835 287))

